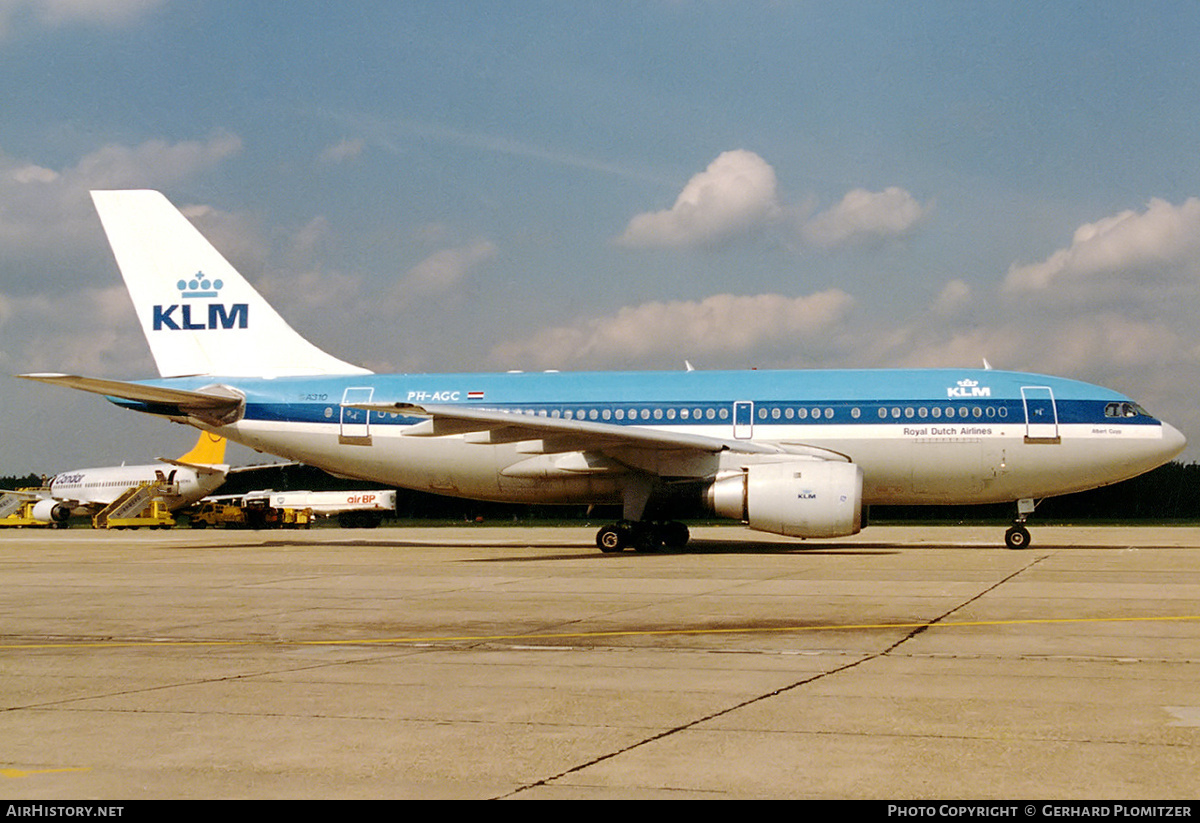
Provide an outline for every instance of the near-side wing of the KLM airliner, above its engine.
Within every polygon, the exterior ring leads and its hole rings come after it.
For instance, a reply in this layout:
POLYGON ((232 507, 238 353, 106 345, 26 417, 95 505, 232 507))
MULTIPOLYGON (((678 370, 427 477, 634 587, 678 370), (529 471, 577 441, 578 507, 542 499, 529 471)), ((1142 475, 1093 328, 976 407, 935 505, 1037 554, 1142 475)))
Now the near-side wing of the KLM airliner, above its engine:
POLYGON ((752 455, 805 455, 821 459, 848 461, 845 455, 804 444, 772 444, 714 438, 683 432, 665 432, 638 426, 616 426, 590 420, 565 420, 540 415, 500 412, 462 406, 416 406, 413 403, 354 403, 354 408, 379 414, 404 414, 428 420, 406 432, 408 437, 464 434, 485 444, 541 440, 534 453, 644 449, 650 451, 722 451, 752 455))

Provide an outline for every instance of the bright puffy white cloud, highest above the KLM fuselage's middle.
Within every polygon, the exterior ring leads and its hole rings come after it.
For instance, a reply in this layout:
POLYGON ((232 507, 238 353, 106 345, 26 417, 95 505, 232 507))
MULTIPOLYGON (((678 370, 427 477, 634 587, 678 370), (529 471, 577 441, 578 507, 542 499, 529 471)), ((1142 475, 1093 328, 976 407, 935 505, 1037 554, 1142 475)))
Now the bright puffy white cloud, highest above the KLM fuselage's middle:
POLYGON ((721 154, 683 187, 674 205, 634 217, 617 238, 631 248, 720 245, 779 212, 775 169, 752 151, 721 154))

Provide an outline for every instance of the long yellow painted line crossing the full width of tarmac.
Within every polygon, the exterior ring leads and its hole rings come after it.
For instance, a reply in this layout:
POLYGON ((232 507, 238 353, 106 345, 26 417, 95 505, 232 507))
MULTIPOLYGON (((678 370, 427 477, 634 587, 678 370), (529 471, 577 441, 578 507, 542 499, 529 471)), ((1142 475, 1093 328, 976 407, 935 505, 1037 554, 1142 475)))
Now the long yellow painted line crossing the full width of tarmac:
POLYGON ((310 647, 310 645, 419 645, 436 643, 486 643, 496 641, 547 641, 547 639, 595 639, 604 637, 665 637, 702 635, 785 635, 811 631, 866 631, 899 629, 971 629, 978 626, 1033 626, 1087 623, 1174 623, 1200 620, 1200 614, 1175 614, 1160 617, 1123 618, 1028 618, 1024 620, 944 620, 938 623, 860 623, 817 626, 743 626, 727 629, 640 629, 618 631, 533 632, 521 635, 446 635, 428 637, 364 637, 342 639, 262 639, 262 641, 202 641, 202 639, 148 639, 148 641, 54 641, 44 643, 5 643, 0 651, 22 649, 130 649, 175 647, 310 647))

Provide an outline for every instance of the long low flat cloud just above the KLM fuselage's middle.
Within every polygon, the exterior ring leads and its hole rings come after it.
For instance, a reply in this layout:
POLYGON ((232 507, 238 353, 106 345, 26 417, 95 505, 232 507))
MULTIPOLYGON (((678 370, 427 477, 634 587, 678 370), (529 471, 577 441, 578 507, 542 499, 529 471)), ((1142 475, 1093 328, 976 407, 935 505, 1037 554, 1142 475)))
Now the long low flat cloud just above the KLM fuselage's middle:
POLYGON ((840 289, 808 296, 718 294, 646 302, 496 347, 503 367, 632 366, 649 360, 739 358, 840 340, 854 300, 840 289))

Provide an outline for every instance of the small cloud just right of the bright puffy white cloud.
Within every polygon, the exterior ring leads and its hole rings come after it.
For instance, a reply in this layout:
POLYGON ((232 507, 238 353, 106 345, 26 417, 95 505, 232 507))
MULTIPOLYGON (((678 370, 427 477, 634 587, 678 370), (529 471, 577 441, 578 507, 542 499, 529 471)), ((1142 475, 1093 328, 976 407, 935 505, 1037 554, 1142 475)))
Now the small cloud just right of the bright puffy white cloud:
POLYGON ((823 248, 875 245, 911 234, 928 214, 929 206, 902 188, 856 188, 805 222, 800 232, 808 242, 823 248))

